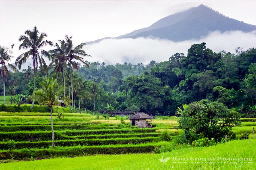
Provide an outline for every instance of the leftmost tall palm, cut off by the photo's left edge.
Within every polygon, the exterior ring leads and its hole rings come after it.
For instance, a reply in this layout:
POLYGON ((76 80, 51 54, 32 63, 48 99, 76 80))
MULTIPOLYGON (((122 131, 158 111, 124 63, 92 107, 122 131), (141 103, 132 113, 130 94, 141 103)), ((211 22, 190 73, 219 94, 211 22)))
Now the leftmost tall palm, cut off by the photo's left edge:
MULTIPOLYGON (((4 95, 3 104, 5 104, 5 79, 10 73, 5 64, 6 64, 6 62, 11 61, 11 58, 13 58, 13 56, 8 54, 8 50, 5 50, 4 46, 0 46, 0 65, 1 65, 0 73, 1 73, 2 81, 3 81, 3 95, 4 95)), ((7 65, 13 71, 17 71, 17 69, 14 65, 9 64, 9 63, 7 65)))

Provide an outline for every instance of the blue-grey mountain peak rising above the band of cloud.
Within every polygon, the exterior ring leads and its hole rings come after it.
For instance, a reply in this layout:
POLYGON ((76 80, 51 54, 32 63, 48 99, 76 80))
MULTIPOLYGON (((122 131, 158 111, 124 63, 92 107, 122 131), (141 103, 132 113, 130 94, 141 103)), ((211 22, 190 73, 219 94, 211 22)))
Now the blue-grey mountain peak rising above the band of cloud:
MULTIPOLYGON (((113 39, 156 37, 179 42, 200 39, 201 37, 207 36, 211 31, 216 30, 220 32, 236 30, 251 32, 256 30, 256 26, 228 18, 201 4, 198 7, 192 7, 188 10, 164 17, 149 27, 138 29, 131 33, 114 37, 113 39)), ((110 38, 106 37, 103 39, 110 38)), ((100 42, 103 39, 90 41, 87 44, 100 42)))

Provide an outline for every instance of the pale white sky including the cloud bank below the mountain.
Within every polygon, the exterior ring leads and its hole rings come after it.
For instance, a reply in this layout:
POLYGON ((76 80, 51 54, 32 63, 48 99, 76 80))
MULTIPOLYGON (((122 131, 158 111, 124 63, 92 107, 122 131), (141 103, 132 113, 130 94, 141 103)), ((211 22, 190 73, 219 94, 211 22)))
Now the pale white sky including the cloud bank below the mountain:
MULTIPOLYGON (((73 36, 73 44, 94 41, 104 37, 117 37, 148 27, 159 19, 176 12, 207 5, 229 18, 256 25, 256 1, 193 1, 193 0, 112 0, 112 1, 7 1, 0 0, 0 45, 12 49, 14 62, 24 51, 18 50, 18 38, 27 29, 37 26, 47 33, 53 43, 73 36)), ((131 62, 149 63, 166 61, 176 52, 184 52, 193 43, 206 42, 214 52, 234 52, 236 46, 244 49, 256 46, 255 32, 215 31, 201 40, 172 42, 168 40, 137 38, 104 40, 90 44, 84 50, 92 56, 88 61, 109 64, 131 62), (218 43, 216 43, 218 41, 218 43), (143 45, 142 45, 143 44, 143 45)), ((47 47, 46 50, 51 49, 47 47)))

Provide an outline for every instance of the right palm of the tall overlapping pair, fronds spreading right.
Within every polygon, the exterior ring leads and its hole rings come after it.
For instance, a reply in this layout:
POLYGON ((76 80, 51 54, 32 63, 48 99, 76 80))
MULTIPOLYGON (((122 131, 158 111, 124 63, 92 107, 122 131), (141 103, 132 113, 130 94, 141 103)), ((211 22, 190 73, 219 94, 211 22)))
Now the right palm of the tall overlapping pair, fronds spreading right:
MULTIPOLYGON (((84 62, 84 58, 80 57, 86 57, 90 56, 86 54, 84 50, 82 50, 82 47, 85 45, 85 43, 81 43, 76 47, 73 47, 72 37, 69 37, 65 35, 65 55, 66 55, 66 62, 69 63, 69 69, 70 69, 70 77, 71 77, 71 100, 74 101, 73 98, 73 78, 72 78, 72 69, 75 68, 78 70, 78 64, 77 62, 82 62, 84 65, 89 67, 89 65, 84 62)), ((72 102, 71 109, 74 107, 74 102, 72 102)))

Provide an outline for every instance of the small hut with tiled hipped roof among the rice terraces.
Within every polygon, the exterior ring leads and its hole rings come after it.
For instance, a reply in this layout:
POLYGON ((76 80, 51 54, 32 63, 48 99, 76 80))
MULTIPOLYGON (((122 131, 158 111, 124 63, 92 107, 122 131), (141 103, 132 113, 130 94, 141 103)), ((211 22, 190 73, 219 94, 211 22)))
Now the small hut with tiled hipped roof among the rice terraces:
POLYGON ((155 119, 155 118, 144 112, 137 112, 132 116, 128 117, 127 119, 130 119, 130 124, 132 126, 138 126, 142 128, 142 127, 151 127, 152 119, 155 119))

